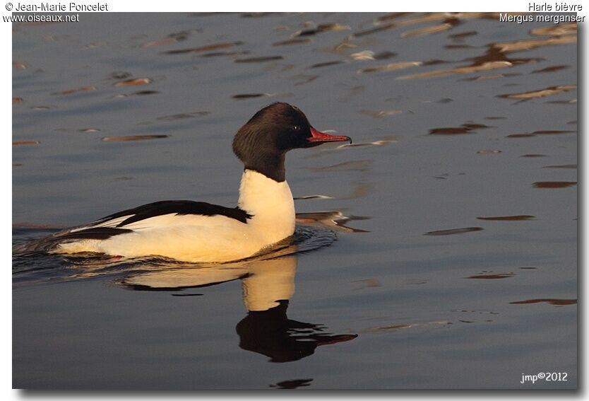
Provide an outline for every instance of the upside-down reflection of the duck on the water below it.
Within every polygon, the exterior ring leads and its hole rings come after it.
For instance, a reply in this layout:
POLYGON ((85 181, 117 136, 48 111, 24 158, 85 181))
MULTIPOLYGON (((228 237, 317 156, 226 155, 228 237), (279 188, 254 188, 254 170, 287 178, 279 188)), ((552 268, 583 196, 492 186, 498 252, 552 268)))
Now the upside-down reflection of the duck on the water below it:
MULTIPOLYGON (((187 289, 241 279, 248 313, 237 323, 239 347, 266 355, 270 362, 297 361, 314 354, 321 345, 355 339, 357 335, 333 335, 320 324, 299 322, 287 316, 294 295, 297 245, 270 253, 271 259, 246 260, 201 268, 162 269, 127 277, 123 284, 134 289, 187 289)), ((268 255, 265 255, 268 257, 268 255)))

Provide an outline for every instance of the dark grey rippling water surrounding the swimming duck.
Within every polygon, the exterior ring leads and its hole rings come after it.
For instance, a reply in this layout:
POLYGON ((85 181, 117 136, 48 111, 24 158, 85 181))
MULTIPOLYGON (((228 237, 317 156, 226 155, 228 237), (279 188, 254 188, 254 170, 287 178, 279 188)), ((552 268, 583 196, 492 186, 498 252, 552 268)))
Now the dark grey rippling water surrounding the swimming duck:
POLYGON ((268 257, 14 257, 13 386, 575 388, 577 72, 576 25, 492 14, 14 25, 14 243, 234 206, 232 135, 273 101, 354 144, 289 154, 268 257))

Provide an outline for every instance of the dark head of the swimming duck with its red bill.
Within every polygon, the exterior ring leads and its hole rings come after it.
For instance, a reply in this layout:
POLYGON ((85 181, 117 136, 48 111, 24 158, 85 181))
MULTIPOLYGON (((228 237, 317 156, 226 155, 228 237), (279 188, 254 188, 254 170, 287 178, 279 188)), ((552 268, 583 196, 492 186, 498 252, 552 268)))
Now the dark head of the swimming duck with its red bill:
POLYGON ((297 107, 273 103, 256 112, 239 129, 233 139, 233 151, 245 168, 282 182, 287 151, 338 141, 352 139, 319 132, 297 107))

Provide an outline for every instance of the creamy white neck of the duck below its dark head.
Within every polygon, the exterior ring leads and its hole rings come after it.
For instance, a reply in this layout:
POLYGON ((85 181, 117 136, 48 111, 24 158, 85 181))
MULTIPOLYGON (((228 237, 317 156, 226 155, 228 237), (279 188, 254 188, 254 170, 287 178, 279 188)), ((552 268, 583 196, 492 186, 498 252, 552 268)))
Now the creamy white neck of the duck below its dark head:
POLYGON ((257 171, 244 170, 237 204, 253 216, 248 224, 268 245, 294 233, 294 200, 286 181, 276 182, 257 171))

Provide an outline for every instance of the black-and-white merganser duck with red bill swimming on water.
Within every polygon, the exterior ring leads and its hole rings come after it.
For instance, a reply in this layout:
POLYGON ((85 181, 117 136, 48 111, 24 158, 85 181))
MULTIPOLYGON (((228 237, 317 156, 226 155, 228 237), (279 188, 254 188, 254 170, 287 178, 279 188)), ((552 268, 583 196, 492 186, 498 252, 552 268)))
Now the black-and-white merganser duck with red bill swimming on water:
POLYGON ((294 234, 286 153, 339 141, 352 139, 314 129, 293 105, 272 103, 256 112, 233 138, 234 154, 244 164, 237 207, 192 200, 153 202, 59 231, 18 250, 159 256, 184 262, 246 259, 294 234))

